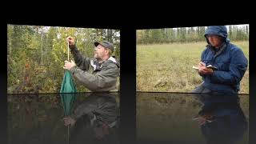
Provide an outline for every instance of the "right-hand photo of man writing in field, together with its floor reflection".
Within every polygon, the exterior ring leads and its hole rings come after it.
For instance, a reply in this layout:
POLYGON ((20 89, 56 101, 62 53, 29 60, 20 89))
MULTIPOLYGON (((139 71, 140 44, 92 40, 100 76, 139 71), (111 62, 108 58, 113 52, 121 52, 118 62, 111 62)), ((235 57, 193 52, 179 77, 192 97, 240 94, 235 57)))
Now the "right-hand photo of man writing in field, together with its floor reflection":
POLYGON ((138 143, 249 142, 249 24, 137 30, 138 143))

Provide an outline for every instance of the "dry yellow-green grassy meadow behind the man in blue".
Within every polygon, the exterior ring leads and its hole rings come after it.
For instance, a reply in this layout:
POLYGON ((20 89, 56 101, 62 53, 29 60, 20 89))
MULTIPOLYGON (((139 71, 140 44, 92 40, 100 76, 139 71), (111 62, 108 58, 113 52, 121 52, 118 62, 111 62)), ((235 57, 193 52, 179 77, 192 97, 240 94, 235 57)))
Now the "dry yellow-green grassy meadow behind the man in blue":
MULTIPOLYGON (((249 42, 232 42, 249 60, 249 42)), ((202 82, 197 70, 206 42, 137 45, 137 91, 190 92, 202 82)), ((249 94, 249 66, 239 94, 249 94)))

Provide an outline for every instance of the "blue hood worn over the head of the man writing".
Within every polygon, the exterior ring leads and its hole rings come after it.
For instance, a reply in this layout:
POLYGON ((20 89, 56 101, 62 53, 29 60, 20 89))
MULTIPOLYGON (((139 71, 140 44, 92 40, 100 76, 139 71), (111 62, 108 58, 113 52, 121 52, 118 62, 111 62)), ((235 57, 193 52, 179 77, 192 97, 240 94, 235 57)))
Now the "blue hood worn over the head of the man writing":
MULTIPOLYGON (((205 38, 206 38, 206 35, 208 35, 208 34, 216 34, 216 35, 224 38, 224 42, 230 42, 230 39, 227 38, 226 26, 208 26, 206 29, 205 35, 204 35, 205 38)), ((206 42, 208 44, 210 44, 207 38, 206 38, 206 42)))

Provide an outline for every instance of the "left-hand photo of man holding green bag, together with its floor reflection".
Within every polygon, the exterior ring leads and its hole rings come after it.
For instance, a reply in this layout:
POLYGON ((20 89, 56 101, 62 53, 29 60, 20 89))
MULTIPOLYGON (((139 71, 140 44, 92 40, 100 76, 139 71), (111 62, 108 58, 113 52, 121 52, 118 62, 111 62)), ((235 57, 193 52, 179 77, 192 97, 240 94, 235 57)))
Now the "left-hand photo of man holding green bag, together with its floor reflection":
POLYGON ((8 143, 119 143, 120 30, 7 25, 8 143))

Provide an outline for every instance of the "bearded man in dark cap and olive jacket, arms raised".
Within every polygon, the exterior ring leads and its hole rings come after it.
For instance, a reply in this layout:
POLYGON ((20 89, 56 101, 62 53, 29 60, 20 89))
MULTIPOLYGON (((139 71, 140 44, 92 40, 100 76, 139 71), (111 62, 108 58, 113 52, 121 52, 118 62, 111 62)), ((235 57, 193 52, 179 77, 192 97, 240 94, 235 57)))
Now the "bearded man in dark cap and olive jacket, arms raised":
POLYGON ((70 70, 78 82, 90 91, 115 91, 119 76, 119 64, 112 57, 114 45, 111 42, 94 42, 94 58, 82 56, 74 38, 66 38, 74 61, 65 61, 64 69, 70 70))

